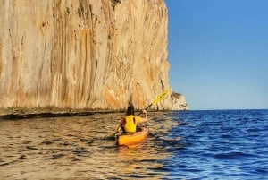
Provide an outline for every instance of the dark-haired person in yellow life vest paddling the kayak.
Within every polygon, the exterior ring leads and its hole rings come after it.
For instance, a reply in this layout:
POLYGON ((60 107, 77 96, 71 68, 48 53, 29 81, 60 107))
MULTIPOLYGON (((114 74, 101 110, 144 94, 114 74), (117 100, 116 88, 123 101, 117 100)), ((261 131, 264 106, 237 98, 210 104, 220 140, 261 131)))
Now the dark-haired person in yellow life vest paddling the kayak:
POLYGON ((126 112, 126 116, 121 118, 120 124, 118 124, 116 132, 120 132, 121 130, 123 131, 123 133, 135 133, 140 131, 138 123, 144 123, 148 120, 147 111, 143 110, 142 113, 144 114, 144 117, 135 116, 134 106, 130 103, 126 112))

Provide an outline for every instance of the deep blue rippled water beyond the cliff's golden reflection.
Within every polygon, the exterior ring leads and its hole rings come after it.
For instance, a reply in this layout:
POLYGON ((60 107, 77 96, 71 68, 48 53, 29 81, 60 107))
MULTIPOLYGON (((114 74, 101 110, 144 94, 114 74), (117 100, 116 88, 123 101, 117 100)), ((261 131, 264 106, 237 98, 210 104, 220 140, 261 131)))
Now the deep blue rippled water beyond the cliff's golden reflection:
POLYGON ((172 179, 268 179, 268 110, 172 113, 163 164, 172 179), (177 148, 176 146, 179 147, 177 148))

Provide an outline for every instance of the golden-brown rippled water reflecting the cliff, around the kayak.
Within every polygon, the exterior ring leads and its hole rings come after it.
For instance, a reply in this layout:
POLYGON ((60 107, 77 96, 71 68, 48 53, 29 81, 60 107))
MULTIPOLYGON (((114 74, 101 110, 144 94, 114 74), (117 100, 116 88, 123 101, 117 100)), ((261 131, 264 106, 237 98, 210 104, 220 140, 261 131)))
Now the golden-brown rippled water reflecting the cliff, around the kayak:
POLYGON ((168 169, 162 162, 170 154, 166 146, 172 144, 163 144, 163 139, 168 142, 169 129, 179 123, 169 114, 151 113, 147 141, 117 147, 105 136, 113 133, 121 116, 0 120, 1 179, 163 178, 168 169))

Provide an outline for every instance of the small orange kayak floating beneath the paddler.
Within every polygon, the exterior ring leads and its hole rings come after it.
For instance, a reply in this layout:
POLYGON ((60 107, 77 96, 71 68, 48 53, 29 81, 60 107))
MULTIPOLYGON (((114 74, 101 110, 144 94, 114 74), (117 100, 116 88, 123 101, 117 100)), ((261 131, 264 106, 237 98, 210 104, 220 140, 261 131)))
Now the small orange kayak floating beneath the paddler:
POLYGON ((135 133, 123 133, 115 138, 118 145, 133 145, 144 141, 147 137, 148 130, 146 127, 141 127, 141 131, 135 133))

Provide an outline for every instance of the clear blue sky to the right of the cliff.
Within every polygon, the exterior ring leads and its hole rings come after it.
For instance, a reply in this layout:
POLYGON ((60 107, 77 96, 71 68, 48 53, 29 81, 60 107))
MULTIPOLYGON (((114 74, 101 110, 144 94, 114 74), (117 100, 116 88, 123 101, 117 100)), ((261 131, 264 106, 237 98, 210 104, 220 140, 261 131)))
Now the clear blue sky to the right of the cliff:
POLYGON ((268 109, 268 0, 165 3, 169 82, 189 109, 268 109))

